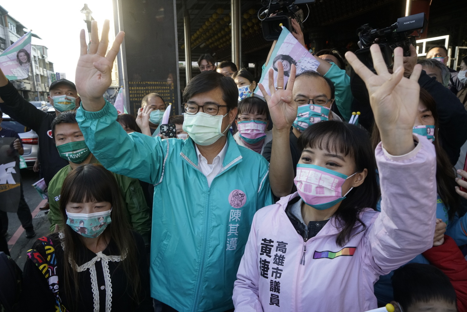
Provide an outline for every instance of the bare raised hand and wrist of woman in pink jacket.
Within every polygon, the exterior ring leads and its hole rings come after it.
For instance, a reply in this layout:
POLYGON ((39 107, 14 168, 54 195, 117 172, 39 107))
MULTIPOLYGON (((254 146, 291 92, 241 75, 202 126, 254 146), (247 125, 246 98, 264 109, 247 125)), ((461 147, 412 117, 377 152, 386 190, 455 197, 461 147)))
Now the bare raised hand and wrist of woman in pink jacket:
POLYGON ((417 114, 422 66, 414 66, 410 78, 403 77, 403 50, 394 50, 394 72, 388 71, 377 44, 370 47, 377 74, 368 69, 352 52, 346 53, 349 64, 367 86, 381 141, 389 154, 404 155, 414 148, 412 127, 417 114))

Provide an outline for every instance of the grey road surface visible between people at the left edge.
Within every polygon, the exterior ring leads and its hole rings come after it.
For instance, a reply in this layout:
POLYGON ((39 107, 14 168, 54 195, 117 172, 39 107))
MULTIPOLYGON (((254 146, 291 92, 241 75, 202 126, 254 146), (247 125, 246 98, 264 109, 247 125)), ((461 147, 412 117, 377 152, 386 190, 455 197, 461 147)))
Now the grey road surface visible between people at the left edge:
POLYGON ((33 212, 33 225, 36 235, 33 238, 26 238, 26 234, 21 227, 16 213, 8 213, 7 241, 11 257, 22 269, 26 261, 26 252, 32 247, 36 238, 49 233, 50 224, 49 220, 47 220, 47 215, 39 212, 39 206, 42 206, 45 201, 31 185, 39 180, 39 174, 30 169, 21 169, 21 177, 23 180, 24 198, 28 203, 29 209, 33 212))

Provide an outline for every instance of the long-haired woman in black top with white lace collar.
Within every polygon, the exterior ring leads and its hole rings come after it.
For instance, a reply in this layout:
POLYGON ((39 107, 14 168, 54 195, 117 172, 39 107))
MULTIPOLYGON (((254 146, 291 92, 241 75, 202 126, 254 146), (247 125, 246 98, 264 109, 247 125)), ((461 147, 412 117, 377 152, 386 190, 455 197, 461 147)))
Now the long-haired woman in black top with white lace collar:
POLYGON ((101 165, 72 170, 60 196, 62 230, 28 251, 20 302, 41 302, 35 309, 44 312, 154 311, 144 242, 121 202, 101 165))

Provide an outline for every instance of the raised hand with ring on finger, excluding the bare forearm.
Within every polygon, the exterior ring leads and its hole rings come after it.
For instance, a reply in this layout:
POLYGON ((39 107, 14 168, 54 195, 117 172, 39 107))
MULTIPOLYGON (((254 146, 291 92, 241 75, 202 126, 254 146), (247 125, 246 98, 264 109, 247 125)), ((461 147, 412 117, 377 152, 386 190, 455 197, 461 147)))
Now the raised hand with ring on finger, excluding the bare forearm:
POLYGON ((266 92, 262 84, 258 84, 264 99, 268 103, 269 114, 271 116, 273 127, 276 130, 290 131, 292 123, 297 118, 297 103, 292 98, 292 89, 295 82, 295 65, 292 64, 290 77, 287 80, 287 88, 284 85, 284 68, 282 63, 277 62, 277 89, 274 87, 274 73, 269 69, 269 92, 266 92))

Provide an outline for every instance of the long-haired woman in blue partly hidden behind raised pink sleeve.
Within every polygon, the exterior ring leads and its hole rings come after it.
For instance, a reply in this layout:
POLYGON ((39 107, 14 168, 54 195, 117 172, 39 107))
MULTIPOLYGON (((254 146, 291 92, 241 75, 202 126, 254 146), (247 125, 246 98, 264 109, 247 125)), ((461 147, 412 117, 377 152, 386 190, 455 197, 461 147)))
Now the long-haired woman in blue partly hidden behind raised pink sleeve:
MULTIPOLYGON (((439 240, 443 238, 445 231, 446 235, 451 236, 458 246, 462 246, 467 243, 467 235, 465 234, 467 215, 464 214, 466 207, 462 205, 460 196, 456 193, 456 182, 454 180, 456 176, 446 152, 440 145, 438 129, 436 102, 430 93, 425 89, 420 89, 417 118, 415 119, 412 132, 426 137, 433 143, 436 150, 437 224, 433 246, 438 246, 439 240)), ((379 137, 379 131, 374 127, 372 134, 373 147, 381 141, 379 137)), ((377 209, 380 210, 379 204, 377 205, 377 209)), ((430 262, 423 255, 417 255, 410 263, 429 264, 430 262)), ((393 290, 390 282, 392 275, 393 272, 381 276, 375 284, 375 295, 381 304, 392 300, 393 290)))

